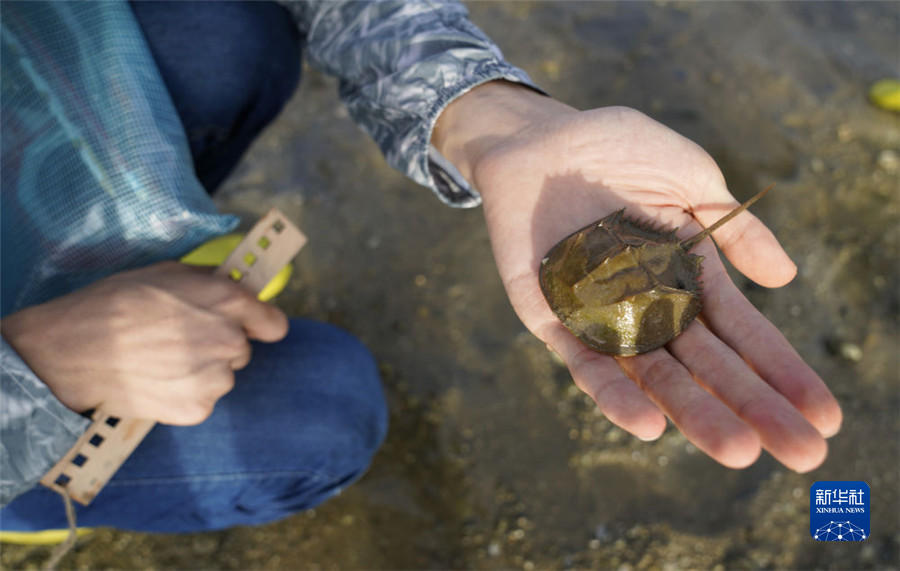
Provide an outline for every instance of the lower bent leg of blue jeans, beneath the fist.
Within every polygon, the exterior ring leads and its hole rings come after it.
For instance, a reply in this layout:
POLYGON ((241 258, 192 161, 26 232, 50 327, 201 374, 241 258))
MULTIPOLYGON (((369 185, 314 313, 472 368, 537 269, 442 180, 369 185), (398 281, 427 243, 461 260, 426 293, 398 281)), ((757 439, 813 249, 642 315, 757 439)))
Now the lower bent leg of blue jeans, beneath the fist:
MULTIPOLYGON (((158 424, 88 507, 80 526, 161 532, 273 521, 359 477, 384 439, 387 409, 369 352, 349 333, 292 320, 255 343, 235 388, 197 426, 158 424)), ((66 527, 38 486, 0 512, 4 530, 66 527)))

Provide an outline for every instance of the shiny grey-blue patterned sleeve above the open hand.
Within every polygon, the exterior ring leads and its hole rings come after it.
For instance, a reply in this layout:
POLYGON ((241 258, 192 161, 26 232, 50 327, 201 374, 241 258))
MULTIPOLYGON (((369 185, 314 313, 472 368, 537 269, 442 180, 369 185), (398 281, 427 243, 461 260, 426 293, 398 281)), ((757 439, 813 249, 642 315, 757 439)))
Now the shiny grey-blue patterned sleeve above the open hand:
POLYGON ((478 193, 430 146, 435 121, 481 83, 534 86, 468 20, 465 7, 403 0, 282 4, 305 35, 309 64, 340 79, 350 115, 388 163, 451 206, 478 205, 478 193))

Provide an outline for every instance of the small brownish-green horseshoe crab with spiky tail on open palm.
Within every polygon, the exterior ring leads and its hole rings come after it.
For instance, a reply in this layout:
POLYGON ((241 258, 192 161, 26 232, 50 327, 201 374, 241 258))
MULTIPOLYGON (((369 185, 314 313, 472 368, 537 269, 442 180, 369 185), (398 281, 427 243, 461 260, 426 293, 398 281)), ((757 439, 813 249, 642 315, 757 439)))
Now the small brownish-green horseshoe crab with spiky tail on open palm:
POLYGON ((679 241, 665 229, 613 212, 553 246, 541 261, 550 308, 595 351, 638 355, 662 347, 700 313, 703 256, 689 253, 771 185, 709 228, 679 241))

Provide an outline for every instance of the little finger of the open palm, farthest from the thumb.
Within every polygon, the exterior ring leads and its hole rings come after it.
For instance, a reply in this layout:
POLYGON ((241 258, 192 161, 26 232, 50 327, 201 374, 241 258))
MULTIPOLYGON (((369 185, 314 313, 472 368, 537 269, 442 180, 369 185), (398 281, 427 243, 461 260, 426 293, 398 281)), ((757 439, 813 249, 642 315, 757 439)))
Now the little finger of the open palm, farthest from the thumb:
POLYGON ((546 335, 548 346, 565 361, 575 384, 610 422, 641 440, 659 438, 666 429, 665 417, 622 373, 615 359, 591 350, 560 323, 546 335))

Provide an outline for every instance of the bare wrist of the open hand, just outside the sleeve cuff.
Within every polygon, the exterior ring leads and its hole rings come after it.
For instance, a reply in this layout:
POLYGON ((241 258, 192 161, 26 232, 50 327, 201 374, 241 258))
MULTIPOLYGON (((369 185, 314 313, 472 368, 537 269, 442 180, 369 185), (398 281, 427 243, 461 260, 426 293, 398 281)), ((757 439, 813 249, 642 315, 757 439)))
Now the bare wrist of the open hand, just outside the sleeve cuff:
POLYGON ((495 151, 547 120, 575 112, 526 85, 491 81, 447 106, 435 123, 431 144, 475 184, 479 166, 495 151))

